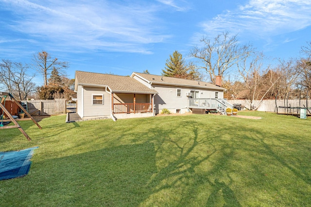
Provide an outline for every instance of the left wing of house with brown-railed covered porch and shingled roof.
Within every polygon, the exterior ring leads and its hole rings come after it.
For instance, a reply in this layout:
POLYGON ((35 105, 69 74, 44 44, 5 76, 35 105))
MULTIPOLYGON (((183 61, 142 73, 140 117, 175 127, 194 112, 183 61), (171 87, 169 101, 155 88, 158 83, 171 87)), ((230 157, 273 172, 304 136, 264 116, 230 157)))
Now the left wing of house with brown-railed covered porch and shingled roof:
POLYGON ((76 71, 74 90, 83 120, 154 116, 157 92, 128 76, 76 71))

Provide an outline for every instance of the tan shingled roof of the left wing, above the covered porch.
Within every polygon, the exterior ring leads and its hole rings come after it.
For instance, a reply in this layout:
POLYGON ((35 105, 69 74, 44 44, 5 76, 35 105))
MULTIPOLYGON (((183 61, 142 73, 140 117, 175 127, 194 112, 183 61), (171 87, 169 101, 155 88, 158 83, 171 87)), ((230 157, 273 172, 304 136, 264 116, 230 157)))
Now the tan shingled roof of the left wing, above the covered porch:
POLYGON ((114 93, 143 93, 155 94, 155 90, 139 83, 129 76, 110 75, 103 73, 76 71, 75 90, 78 85, 84 86, 108 86, 114 93))

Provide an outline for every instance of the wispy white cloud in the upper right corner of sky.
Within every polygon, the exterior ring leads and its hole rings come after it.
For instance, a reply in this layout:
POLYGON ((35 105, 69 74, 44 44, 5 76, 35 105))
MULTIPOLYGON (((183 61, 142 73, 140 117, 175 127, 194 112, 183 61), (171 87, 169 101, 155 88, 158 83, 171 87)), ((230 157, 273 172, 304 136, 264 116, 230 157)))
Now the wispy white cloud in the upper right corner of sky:
POLYGON ((310 0, 250 0, 235 10, 201 22, 200 27, 211 36, 229 31, 264 39, 309 27, 310 11, 310 0))

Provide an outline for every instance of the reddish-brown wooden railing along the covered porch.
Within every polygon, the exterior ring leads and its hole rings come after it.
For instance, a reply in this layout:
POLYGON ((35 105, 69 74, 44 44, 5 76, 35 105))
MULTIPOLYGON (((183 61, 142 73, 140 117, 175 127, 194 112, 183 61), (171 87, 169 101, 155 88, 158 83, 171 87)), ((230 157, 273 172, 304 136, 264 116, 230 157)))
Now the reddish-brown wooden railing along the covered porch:
POLYGON ((151 103, 124 103, 113 104, 113 113, 115 114, 131 114, 131 113, 151 113, 151 103))

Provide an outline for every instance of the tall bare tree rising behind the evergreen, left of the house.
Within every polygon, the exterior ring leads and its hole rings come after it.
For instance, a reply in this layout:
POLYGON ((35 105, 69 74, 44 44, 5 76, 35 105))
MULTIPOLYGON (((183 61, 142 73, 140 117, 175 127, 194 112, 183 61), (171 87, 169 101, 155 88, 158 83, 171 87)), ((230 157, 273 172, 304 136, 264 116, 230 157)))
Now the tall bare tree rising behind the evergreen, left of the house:
POLYGON ((48 85, 50 70, 57 69, 59 73, 64 73, 65 69, 69 67, 68 62, 58 61, 56 57, 52 59, 51 54, 46 51, 34 54, 33 64, 37 71, 43 75, 44 86, 48 85))

